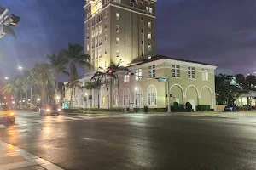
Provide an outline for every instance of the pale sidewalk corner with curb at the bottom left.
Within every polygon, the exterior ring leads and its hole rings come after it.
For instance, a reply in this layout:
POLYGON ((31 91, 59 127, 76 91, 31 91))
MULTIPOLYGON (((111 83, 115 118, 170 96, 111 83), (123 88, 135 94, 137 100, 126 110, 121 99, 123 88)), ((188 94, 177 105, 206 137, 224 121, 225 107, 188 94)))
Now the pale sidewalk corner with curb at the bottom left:
POLYGON ((34 156, 14 145, 0 141, 0 169, 1 170, 62 170, 49 161, 34 156))

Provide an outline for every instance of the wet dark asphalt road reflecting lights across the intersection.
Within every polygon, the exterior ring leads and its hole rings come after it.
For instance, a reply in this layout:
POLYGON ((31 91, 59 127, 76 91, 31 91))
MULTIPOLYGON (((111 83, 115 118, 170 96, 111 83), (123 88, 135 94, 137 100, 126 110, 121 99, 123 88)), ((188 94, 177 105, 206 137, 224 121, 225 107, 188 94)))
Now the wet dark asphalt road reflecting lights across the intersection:
POLYGON ((18 112, 0 140, 64 169, 253 170, 256 114, 39 116, 18 112))

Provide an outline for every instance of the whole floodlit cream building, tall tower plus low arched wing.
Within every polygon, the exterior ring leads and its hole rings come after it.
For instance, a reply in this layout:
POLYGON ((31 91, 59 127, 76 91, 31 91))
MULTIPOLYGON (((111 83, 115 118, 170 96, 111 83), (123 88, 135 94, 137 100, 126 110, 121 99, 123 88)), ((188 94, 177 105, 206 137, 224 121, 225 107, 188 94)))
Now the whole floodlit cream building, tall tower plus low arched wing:
MULTIPOLYGON (((215 109, 215 65, 156 55, 156 0, 87 0, 85 10, 85 54, 90 54, 92 70, 85 69, 83 84, 96 71, 124 60, 135 75, 118 72, 118 80, 108 77, 105 86, 94 90, 76 90, 75 107, 112 108, 148 106, 165 108, 166 82, 170 80, 170 104, 210 105, 215 109), (99 69, 101 67, 101 69, 99 69), (119 82, 119 88, 118 84, 119 82), (91 99, 89 99, 91 96, 91 99)), ((67 90, 65 99, 70 99, 67 90)))

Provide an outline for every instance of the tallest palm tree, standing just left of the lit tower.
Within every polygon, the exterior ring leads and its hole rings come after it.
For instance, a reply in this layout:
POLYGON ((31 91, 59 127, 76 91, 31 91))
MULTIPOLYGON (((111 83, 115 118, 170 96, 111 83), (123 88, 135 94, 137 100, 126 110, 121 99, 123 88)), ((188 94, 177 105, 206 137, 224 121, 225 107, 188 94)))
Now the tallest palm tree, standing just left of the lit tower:
MULTIPOLYGON (((90 67, 89 59, 90 55, 83 54, 83 47, 79 44, 68 43, 67 49, 62 49, 60 52, 61 56, 66 58, 69 62, 69 85, 74 87, 79 79, 76 65, 90 67)), ((73 89, 71 88, 71 99, 73 96, 73 89)), ((70 100, 72 102, 72 100, 70 100)), ((70 104, 71 106, 71 104, 70 104)))

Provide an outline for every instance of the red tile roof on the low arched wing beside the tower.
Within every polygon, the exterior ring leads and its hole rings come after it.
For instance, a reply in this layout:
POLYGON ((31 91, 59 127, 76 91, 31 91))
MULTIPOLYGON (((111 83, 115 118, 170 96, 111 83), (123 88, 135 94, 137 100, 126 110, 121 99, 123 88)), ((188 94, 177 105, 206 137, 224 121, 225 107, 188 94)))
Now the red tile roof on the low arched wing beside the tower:
MULTIPOLYGON (((156 56, 152 57, 151 59, 148 59, 148 58, 145 58, 145 57, 134 59, 130 64, 128 64, 128 67, 129 66, 134 66, 134 65, 142 65, 144 63, 149 63, 149 62, 160 60, 160 59, 172 59, 172 60, 189 62, 189 63, 196 63, 196 64, 201 64, 201 65, 211 65, 211 64, 202 63, 202 62, 193 61, 193 60, 188 60, 188 59, 176 59, 176 58, 167 57, 167 56, 164 56, 164 55, 156 55, 156 56)), ((212 65, 212 66, 217 66, 217 65, 212 65)))

